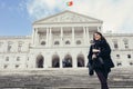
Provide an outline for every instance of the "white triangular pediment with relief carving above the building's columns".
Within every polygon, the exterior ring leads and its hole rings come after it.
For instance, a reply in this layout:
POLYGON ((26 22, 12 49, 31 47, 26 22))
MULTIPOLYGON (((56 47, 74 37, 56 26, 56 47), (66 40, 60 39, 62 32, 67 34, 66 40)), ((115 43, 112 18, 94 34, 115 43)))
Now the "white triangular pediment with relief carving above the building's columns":
POLYGON ((80 14, 80 13, 66 10, 61 13, 38 20, 34 23, 38 24, 38 23, 53 23, 53 22, 64 23, 64 22, 102 22, 102 21, 84 14, 80 14))

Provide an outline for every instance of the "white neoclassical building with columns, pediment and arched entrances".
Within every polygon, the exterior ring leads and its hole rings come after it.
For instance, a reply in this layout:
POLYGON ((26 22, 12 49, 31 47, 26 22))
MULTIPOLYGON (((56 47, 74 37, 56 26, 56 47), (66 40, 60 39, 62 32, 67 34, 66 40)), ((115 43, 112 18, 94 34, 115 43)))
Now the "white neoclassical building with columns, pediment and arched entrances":
MULTIPOLYGON (((84 68, 103 21, 72 11, 33 23, 32 34, 0 37, 0 69, 84 68)), ((133 33, 104 33, 116 67, 133 65, 133 33)))

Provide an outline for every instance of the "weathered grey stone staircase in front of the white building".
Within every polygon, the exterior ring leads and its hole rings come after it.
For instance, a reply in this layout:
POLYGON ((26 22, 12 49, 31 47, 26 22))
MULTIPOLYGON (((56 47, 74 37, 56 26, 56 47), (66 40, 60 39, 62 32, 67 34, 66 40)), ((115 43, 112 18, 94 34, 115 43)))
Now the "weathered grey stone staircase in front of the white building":
MULTIPOLYGON (((112 69, 110 89, 133 89, 132 69, 112 69)), ((0 89, 100 89, 100 81, 88 68, 0 70, 0 89)))

